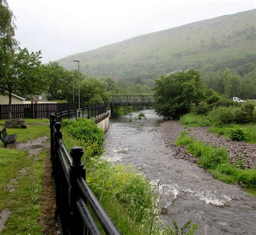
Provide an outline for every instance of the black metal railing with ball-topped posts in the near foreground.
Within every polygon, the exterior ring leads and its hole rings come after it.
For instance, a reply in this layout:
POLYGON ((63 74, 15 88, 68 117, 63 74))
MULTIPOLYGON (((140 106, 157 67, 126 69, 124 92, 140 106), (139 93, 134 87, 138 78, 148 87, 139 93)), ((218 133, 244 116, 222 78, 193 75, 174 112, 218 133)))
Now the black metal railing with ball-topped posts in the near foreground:
POLYGON ((52 178, 56 191, 55 215, 62 234, 100 234, 87 205, 106 234, 120 234, 85 180, 81 162, 83 149, 73 147, 68 153, 62 141, 61 123, 50 116, 52 178), (70 156, 71 155, 71 156, 70 156))

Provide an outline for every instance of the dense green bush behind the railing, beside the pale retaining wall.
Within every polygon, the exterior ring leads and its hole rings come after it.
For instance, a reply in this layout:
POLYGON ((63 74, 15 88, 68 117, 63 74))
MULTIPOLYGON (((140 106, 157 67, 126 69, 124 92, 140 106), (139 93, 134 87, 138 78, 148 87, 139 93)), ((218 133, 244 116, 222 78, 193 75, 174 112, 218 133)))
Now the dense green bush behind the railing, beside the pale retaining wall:
POLYGON ((62 125, 78 140, 79 146, 84 148, 85 161, 90 161, 91 157, 97 157, 103 153, 104 133, 93 120, 63 119, 62 125))

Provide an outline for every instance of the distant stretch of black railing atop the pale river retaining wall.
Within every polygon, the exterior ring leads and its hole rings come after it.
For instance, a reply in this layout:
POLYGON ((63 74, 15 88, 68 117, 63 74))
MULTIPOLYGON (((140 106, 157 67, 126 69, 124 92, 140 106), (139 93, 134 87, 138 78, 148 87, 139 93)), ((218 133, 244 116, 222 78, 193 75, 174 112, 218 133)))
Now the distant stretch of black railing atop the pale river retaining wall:
POLYGON ((92 105, 87 107, 82 107, 79 109, 60 109, 60 112, 56 113, 57 121, 60 121, 63 118, 68 119, 77 119, 77 118, 87 118, 87 119, 95 119, 99 116, 105 114, 107 112, 107 103, 100 105, 92 105))

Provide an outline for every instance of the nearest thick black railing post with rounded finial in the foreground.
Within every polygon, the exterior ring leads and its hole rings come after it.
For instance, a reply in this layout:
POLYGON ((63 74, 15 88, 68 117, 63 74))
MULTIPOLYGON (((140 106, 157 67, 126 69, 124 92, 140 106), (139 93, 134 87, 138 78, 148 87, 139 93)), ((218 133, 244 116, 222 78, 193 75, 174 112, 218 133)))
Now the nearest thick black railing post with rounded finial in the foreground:
POLYGON ((70 150, 72 157, 72 163, 70 164, 69 174, 69 205, 71 209, 70 213, 70 234, 84 234, 84 223, 82 217, 76 206, 76 200, 79 198, 79 189, 77 185, 77 178, 83 177, 85 179, 85 169, 81 158, 84 154, 83 148, 73 147, 70 150))

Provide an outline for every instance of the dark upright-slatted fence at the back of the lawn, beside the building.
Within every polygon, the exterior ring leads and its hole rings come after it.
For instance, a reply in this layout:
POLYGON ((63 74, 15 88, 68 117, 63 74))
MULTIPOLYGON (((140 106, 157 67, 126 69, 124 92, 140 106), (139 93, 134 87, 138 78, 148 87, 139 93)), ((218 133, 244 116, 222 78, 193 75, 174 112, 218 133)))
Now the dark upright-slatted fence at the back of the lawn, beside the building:
MULTIPOLYGON (((75 109, 75 103, 29 103, 11 105, 12 118, 17 119, 38 119, 49 118, 53 112, 60 112, 60 109, 75 109)), ((0 119, 9 118, 9 105, 0 105, 0 119)))

